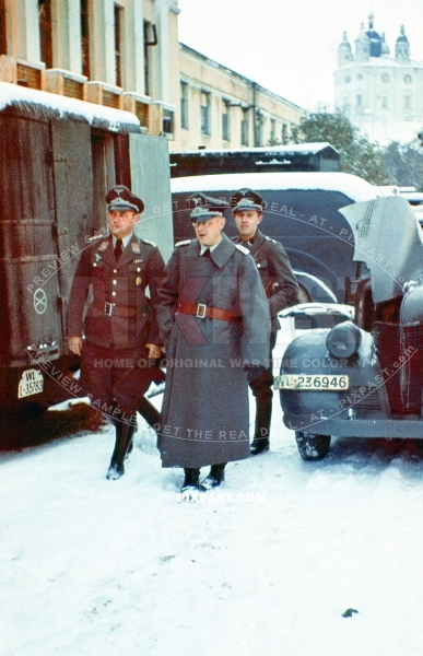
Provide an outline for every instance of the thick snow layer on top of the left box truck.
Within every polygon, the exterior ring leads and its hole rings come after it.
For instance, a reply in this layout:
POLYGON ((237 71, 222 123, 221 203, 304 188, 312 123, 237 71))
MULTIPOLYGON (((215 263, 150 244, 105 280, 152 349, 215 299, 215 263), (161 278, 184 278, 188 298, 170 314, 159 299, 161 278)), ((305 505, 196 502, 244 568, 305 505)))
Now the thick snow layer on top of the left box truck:
POLYGON ((91 125, 95 119, 104 119, 110 126, 119 124, 128 124, 139 127, 140 121, 131 112, 124 109, 114 109, 95 103, 85 103, 78 98, 61 96, 47 91, 38 91, 36 89, 26 89, 17 84, 9 82, 0 82, 0 110, 15 103, 31 103, 34 105, 43 105, 59 112, 62 117, 66 114, 74 114, 83 116, 91 125))

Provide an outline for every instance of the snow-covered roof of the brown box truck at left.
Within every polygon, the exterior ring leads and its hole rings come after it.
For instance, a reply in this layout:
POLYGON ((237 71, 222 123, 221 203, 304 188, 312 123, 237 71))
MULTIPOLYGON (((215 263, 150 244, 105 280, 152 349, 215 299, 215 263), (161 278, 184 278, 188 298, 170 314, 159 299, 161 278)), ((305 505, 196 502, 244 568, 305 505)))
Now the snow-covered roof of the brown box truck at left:
POLYGON ((113 132, 140 131, 140 121, 131 112, 0 82, 0 112, 12 108, 33 118, 74 118, 113 132))

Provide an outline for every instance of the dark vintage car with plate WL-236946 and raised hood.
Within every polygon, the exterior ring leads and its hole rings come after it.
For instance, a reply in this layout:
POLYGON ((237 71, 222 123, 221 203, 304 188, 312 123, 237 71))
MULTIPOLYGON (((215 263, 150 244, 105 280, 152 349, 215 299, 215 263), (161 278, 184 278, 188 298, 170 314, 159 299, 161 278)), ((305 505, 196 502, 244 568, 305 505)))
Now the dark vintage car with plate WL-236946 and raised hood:
POLYGON ((296 337, 275 380, 306 460, 324 458, 332 436, 423 438, 422 229, 398 196, 340 211, 357 262, 354 321, 296 337))

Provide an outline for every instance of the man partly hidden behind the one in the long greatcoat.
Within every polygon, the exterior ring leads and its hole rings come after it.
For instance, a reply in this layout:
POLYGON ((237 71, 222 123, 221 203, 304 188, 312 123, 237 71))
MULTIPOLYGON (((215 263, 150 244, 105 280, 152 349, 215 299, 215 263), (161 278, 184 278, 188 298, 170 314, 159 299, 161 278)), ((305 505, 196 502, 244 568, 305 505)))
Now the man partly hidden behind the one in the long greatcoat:
POLYGON ((256 425, 250 453, 256 456, 269 450, 273 396, 273 349, 277 343, 278 330, 281 327, 278 313, 296 302, 298 284, 280 242, 263 235, 258 229, 263 218, 261 196, 251 189, 239 189, 233 195, 231 207, 238 230, 238 236, 234 241, 247 247, 256 262, 269 302, 271 317, 269 366, 258 379, 250 383, 256 398, 256 425))

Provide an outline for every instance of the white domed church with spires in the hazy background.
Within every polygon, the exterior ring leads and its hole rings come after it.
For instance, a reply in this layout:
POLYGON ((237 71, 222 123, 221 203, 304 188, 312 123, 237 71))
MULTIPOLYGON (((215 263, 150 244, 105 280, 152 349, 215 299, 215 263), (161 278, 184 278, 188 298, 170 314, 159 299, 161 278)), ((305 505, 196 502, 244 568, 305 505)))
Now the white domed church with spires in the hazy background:
POLYGON ((338 47, 334 72, 334 108, 348 116, 371 141, 408 142, 423 127, 423 62, 410 59, 410 44, 401 25, 390 55, 385 34, 368 16, 354 40, 346 32, 338 47))

